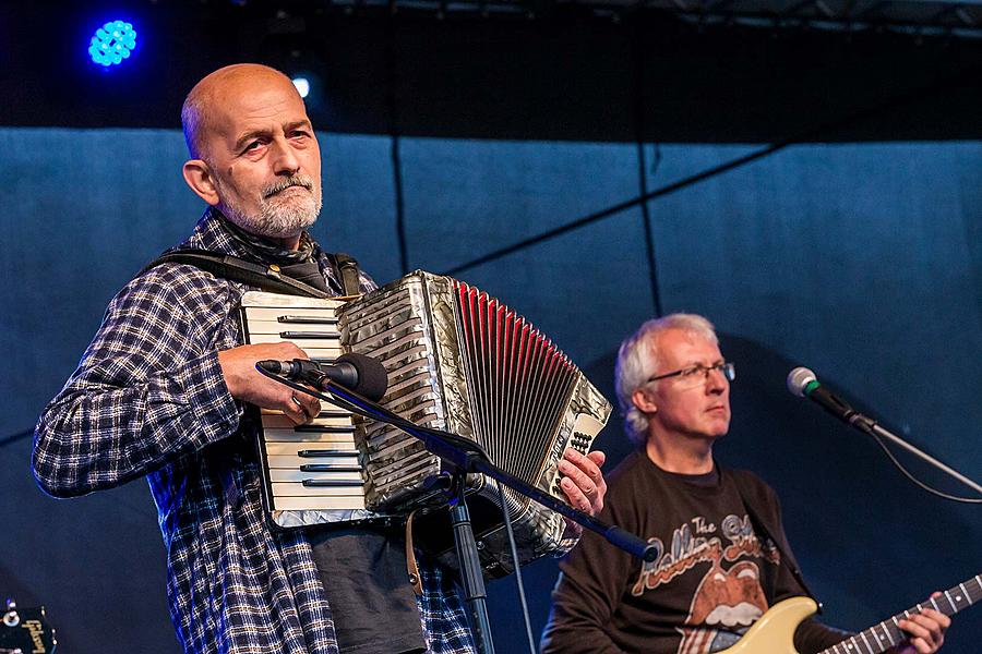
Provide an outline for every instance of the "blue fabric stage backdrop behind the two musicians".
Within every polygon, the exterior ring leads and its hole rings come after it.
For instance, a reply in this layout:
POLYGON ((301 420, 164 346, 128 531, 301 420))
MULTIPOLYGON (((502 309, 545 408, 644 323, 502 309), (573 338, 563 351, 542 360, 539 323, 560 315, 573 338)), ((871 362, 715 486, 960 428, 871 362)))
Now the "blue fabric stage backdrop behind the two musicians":
MULTIPOLYGON (((315 235, 380 282, 398 277, 390 141, 320 136, 315 235)), ((758 147, 406 138, 405 266, 454 269, 758 147)), ((194 225, 183 148, 176 131, 0 129, 0 437, 33 426, 108 300, 194 225)), ((647 217, 635 206, 455 275, 529 317, 612 400, 618 343, 656 302, 712 319, 738 366, 718 453, 779 492, 830 623, 863 629, 982 572, 982 507, 915 489, 873 443, 785 390, 809 365, 982 477, 982 144, 793 146, 661 196, 647 217)), ((611 464, 627 452, 619 417, 598 446, 611 464)), ((0 446, 0 592, 45 604, 65 652, 177 652, 145 484, 57 501, 34 486, 29 448, 0 446)), ((556 568, 527 570, 538 635, 556 568)), ((490 593, 499 651, 524 651, 512 582, 490 593)), ((977 653, 980 633, 975 608, 946 651, 977 653)))

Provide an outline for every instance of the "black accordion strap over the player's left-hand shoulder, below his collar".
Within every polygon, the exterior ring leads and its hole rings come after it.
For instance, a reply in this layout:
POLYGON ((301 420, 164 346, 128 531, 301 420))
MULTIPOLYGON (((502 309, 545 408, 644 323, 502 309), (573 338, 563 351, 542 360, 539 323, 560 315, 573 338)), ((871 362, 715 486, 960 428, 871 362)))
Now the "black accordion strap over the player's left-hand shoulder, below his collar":
MULTIPOLYGON (((275 264, 263 266, 230 254, 221 254, 209 250, 188 249, 165 253, 144 266, 140 275, 160 264, 188 264, 211 272, 215 277, 258 287, 271 293, 306 295, 308 298, 332 296, 318 288, 280 274, 279 266, 275 264)), ((357 265, 356 263, 356 275, 357 265)))

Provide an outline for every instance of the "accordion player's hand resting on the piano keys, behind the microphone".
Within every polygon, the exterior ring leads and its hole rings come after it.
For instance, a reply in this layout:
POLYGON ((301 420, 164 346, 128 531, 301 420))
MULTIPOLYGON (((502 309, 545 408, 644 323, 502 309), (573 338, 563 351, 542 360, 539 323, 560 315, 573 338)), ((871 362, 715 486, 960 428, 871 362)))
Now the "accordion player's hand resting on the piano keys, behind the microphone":
POLYGON ((265 377, 255 370, 255 362, 264 359, 287 361, 308 359, 307 353, 294 343, 260 343, 240 346, 218 352, 218 365, 229 393, 237 400, 263 409, 283 411, 295 425, 309 423, 321 412, 316 398, 294 390, 265 377))

